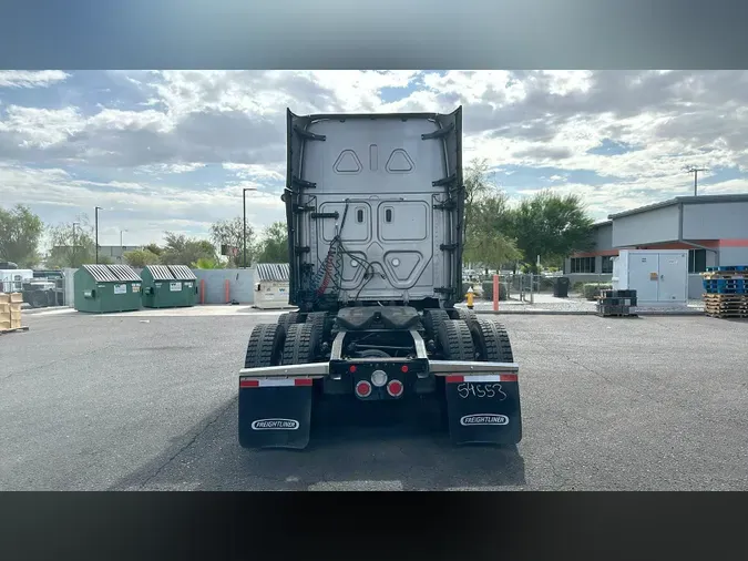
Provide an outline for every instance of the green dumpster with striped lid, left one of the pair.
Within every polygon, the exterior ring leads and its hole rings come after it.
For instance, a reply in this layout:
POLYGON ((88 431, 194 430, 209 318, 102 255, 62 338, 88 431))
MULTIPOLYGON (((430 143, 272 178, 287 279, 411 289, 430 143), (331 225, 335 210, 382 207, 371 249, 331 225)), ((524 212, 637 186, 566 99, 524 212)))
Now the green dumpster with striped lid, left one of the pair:
POLYGON ((105 314, 141 308, 142 280, 127 265, 83 265, 73 275, 73 306, 105 314))

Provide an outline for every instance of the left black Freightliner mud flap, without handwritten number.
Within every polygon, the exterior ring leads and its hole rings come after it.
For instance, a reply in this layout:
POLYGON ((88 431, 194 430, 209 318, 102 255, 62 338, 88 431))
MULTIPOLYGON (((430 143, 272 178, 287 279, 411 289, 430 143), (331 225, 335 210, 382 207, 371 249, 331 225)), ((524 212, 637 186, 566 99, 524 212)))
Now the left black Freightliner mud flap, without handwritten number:
POLYGON ((311 379, 239 381, 243 448, 304 449, 310 425, 311 379))

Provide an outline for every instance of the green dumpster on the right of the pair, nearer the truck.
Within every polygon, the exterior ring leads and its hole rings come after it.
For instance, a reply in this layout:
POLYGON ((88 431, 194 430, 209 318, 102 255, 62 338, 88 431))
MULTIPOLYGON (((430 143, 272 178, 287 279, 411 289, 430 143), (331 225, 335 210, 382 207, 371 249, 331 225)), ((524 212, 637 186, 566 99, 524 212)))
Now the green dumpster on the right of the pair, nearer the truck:
POLYGON ((195 274, 184 265, 147 265, 143 278, 143 306, 176 308, 195 305, 195 274))

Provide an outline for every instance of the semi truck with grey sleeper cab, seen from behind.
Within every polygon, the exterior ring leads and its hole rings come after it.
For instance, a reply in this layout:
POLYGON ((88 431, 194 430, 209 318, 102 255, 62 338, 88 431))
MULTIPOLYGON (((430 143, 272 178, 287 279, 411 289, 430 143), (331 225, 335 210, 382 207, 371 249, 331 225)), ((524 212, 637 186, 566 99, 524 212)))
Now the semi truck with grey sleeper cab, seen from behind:
POLYGON ((240 446, 306 448, 312 408, 330 399, 375 411, 434 400, 455 445, 518 443, 509 335, 494 317, 455 307, 463 299, 462 108, 287 110, 286 120, 281 200, 297 309, 249 335, 238 373, 240 446))

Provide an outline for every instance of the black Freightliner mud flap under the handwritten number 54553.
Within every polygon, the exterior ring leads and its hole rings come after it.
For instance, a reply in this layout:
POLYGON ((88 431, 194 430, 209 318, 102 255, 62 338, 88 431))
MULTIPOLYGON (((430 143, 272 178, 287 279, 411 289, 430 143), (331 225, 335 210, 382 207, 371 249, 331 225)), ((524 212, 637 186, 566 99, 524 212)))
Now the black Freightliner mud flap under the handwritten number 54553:
POLYGON ((455 445, 515 445, 522 440, 516 374, 448 376, 449 431, 455 445))

